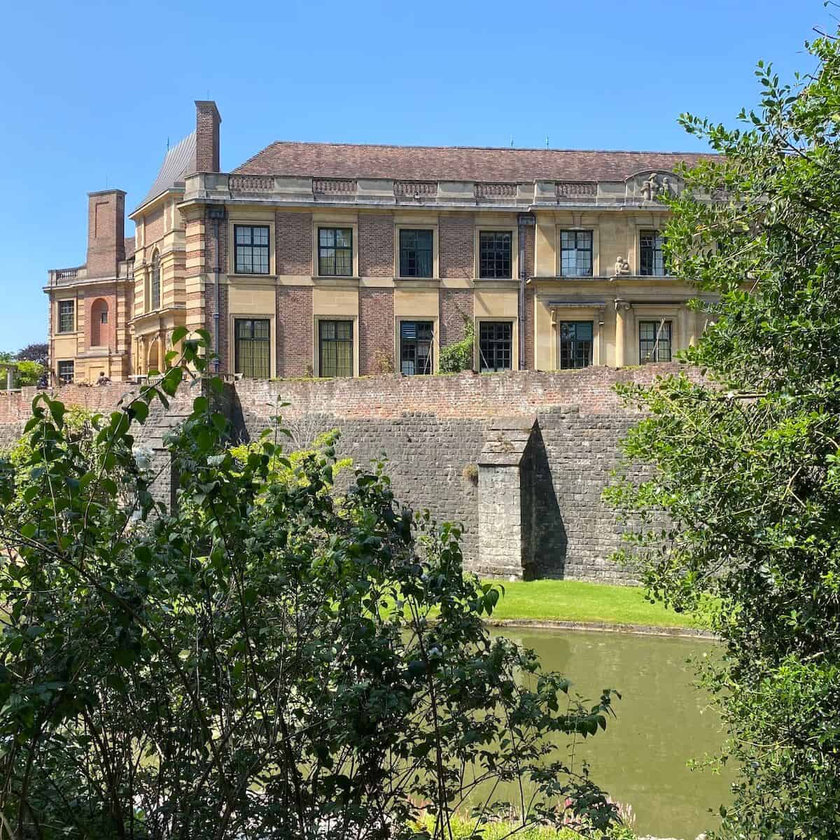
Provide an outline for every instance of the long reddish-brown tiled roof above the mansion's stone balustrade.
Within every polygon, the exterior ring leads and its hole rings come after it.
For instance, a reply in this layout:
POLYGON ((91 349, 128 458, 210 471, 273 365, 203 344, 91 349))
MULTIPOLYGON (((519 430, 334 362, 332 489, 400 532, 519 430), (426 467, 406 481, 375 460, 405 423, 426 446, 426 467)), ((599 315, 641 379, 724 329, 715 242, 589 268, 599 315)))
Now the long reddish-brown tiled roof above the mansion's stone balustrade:
POLYGON ((624 181, 640 171, 673 170, 717 155, 272 143, 234 170, 239 175, 393 178, 406 181, 624 181))

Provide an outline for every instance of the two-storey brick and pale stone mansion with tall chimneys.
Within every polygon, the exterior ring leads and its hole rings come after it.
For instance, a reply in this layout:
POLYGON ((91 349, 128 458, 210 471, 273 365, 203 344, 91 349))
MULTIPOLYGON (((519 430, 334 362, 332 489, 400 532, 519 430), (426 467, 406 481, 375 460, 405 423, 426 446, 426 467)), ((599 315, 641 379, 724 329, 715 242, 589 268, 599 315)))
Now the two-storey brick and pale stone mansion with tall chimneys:
POLYGON ((675 168, 708 155, 277 142, 219 171, 215 102, 129 213, 92 192, 87 261, 49 272, 54 383, 160 370, 176 326, 254 378, 670 361, 696 293, 669 276, 675 168))

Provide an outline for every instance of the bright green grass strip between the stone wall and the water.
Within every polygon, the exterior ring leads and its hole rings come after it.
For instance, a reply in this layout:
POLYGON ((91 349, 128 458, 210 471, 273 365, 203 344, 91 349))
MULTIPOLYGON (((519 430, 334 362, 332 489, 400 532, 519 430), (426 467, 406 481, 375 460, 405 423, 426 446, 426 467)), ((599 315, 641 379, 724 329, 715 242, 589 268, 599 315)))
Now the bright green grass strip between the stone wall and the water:
POLYGON ((611 586, 580 580, 498 581, 505 594, 494 620, 598 622, 647 627, 703 627, 695 617, 666 610, 644 599, 638 586, 611 586))

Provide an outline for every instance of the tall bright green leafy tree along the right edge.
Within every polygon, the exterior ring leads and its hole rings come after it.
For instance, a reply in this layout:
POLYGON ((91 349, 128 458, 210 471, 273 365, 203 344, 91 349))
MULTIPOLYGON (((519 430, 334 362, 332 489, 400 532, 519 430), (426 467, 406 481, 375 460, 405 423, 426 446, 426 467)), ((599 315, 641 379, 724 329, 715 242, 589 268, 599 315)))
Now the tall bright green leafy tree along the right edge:
POLYGON ((726 837, 840 836, 840 48, 808 50, 794 87, 759 62, 746 129, 681 118, 725 155, 666 233, 713 322, 682 354, 706 379, 622 389, 647 417, 606 494, 650 593, 713 608, 726 837))

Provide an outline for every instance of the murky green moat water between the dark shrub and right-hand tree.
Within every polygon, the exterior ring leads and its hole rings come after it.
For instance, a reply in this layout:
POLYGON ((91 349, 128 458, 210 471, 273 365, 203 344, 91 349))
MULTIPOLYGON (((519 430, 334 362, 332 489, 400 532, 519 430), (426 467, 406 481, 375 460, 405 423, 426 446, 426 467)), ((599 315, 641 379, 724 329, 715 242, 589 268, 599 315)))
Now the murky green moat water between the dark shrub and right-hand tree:
POLYGON ((543 667, 567 675, 580 696, 596 699, 605 688, 621 692, 617 719, 575 755, 589 762, 592 779, 613 801, 633 806, 639 834, 693 840, 717 827, 709 811, 717 813, 728 800, 728 777, 686 766, 722 743, 717 713, 686 663, 711 654, 712 643, 520 627, 496 632, 536 650, 543 667))

